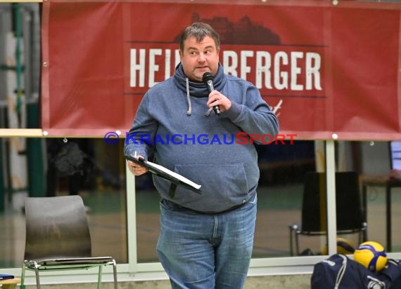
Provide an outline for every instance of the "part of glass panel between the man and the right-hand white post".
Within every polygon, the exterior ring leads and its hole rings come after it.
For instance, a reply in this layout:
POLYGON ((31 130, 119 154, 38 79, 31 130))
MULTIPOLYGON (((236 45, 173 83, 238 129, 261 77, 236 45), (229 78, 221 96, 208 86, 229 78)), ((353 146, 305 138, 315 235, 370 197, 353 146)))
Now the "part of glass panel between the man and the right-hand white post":
MULTIPOLYGON (((295 141, 291 145, 286 141, 286 145, 258 146, 257 150, 260 181, 253 257, 319 253, 322 247, 320 238, 302 234, 298 235, 297 250, 295 231, 291 231, 290 227, 297 225, 298 229, 303 229, 305 177, 316 172, 317 168, 324 170, 324 159, 321 159, 324 158, 324 143, 319 146, 314 141, 295 141), (322 149, 319 150, 319 147, 322 149)), ((323 196, 325 193, 322 191, 323 196)), ((304 205, 307 208, 307 204, 304 205)), ((325 206, 323 208, 326 212, 325 206)), ((318 211, 315 213, 317 220, 318 211)), ((325 226, 325 214, 322 214, 322 220, 325 226)))

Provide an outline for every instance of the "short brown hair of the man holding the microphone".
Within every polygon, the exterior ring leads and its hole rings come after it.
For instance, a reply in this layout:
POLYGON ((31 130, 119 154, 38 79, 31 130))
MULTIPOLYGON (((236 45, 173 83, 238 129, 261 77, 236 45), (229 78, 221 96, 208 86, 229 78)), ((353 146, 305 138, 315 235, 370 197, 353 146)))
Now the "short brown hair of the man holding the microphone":
POLYGON ((205 36, 210 36, 215 41, 216 48, 220 47, 220 36, 210 25, 203 22, 194 22, 189 27, 186 27, 181 34, 179 40, 179 49, 184 51, 184 41, 190 37, 195 37, 196 41, 202 41, 205 36))

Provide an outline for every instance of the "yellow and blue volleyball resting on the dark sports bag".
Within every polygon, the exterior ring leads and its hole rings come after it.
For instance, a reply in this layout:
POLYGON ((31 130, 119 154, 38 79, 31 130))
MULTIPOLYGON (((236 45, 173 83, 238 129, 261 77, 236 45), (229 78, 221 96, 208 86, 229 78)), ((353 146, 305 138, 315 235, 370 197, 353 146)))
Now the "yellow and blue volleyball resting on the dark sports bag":
POLYGON ((370 271, 380 272, 386 266, 388 258, 381 244, 368 241, 360 244, 355 250, 354 260, 370 271))

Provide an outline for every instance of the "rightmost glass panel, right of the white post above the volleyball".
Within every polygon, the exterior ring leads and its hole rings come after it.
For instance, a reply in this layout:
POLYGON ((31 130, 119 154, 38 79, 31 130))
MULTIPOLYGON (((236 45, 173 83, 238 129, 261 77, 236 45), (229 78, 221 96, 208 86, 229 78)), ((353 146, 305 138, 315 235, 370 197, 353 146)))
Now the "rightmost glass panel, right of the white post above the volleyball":
POLYGON ((388 252, 401 250, 401 230, 397 225, 401 221, 399 144, 396 141, 336 144, 337 170, 353 170, 359 175, 362 212, 367 222, 364 240, 381 243, 388 252))

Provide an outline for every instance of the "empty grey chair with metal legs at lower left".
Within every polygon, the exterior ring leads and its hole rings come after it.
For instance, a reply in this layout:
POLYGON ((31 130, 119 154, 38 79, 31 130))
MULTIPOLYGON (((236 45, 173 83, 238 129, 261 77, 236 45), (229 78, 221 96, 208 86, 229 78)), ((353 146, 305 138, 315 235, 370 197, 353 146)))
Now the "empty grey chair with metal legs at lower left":
POLYGON ((91 254, 91 235, 80 196, 27 198, 25 220, 21 288, 25 288, 25 270, 35 271, 37 289, 40 289, 39 271, 93 267, 98 267, 98 288, 101 288, 102 268, 111 265, 114 288, 117 289, 117 268, 113 257, 93 257, 91 254))

